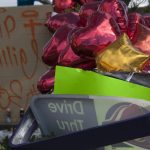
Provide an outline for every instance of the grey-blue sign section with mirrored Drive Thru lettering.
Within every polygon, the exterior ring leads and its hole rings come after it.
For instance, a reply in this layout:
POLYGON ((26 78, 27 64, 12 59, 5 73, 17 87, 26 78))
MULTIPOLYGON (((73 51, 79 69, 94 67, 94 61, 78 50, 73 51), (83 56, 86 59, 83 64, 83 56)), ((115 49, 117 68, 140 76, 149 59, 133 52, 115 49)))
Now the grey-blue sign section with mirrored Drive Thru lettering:
POLYGON ((46 136, 65 135, 98 125, 93 99, 88 96, 38 96, 30 108, 46 136))

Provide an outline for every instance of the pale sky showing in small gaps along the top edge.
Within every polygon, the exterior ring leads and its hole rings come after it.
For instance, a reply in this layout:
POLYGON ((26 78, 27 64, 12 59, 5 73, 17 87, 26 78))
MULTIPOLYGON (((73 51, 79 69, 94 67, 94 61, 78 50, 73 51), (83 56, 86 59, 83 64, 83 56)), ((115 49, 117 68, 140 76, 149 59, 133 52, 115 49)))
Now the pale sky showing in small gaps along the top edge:
MULTIPOLYGON (((148 0, 145 0, 145 1, 146 2, 143 3, 142 5, 147 4, 148 0)), ((35 4, 40 4, 40 3, 35 2, 35 4)), ((17 0, 0 0, 0 7, 3 7, 3 6, 16 6, 16 5, 17 5, 17 0)))

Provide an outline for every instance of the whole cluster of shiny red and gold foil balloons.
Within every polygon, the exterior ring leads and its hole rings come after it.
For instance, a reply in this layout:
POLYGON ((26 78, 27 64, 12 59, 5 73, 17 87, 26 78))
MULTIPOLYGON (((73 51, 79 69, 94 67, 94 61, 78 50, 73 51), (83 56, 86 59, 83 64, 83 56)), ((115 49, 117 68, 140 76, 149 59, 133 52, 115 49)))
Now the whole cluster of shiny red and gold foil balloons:
POLYGON ((51 69, 38 81, 41 93, 52 91, 55 66, 102 71, 150 70, 148 15, 128 13, 123 0, 54 0, 55 14, 45 25, 53 36, 42 60, 51 69), (66 12, 82 5, 78 12, 66 12))

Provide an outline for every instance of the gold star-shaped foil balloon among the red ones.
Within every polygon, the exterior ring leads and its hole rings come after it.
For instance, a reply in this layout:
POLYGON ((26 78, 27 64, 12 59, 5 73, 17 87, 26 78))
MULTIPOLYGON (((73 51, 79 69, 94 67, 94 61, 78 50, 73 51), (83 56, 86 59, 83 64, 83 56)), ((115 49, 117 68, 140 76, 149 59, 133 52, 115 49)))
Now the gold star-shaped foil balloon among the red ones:
POLYGON ((148 59, 149 55, 137 51, 124 33, 103 53, 97 55, 96 64, 100 70, 107 72, 141 72, 143 64, 148 59))

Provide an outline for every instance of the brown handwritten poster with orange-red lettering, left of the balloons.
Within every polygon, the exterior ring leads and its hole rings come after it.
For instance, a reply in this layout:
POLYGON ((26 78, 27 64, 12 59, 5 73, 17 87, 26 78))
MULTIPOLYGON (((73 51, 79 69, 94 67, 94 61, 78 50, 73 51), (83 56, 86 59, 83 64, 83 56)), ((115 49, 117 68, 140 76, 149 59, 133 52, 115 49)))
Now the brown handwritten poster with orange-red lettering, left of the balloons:
POLYGON ((0 123, 6 110, 13 123, 39 94, 37 81, 47 71, 41 53, 51 34, 44 26, 51 5, 0 8, 0 123))

